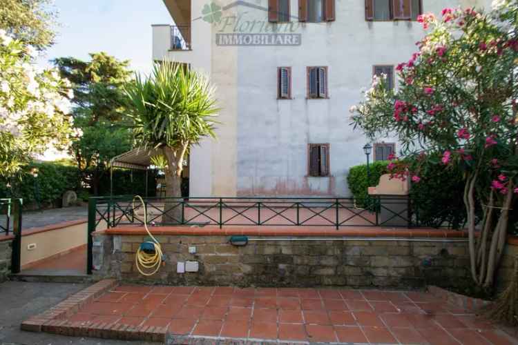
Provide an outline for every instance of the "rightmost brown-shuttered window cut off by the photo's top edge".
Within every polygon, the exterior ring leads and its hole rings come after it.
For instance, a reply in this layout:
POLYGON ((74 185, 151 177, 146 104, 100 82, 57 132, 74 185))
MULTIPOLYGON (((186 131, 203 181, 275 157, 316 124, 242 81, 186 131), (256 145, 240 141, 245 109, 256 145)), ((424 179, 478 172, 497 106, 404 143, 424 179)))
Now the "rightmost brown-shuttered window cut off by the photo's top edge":
POLYGON ((421 0, 365 0, 367 21, 415 21, 422 12, 421 0))

